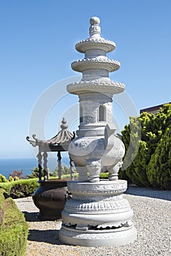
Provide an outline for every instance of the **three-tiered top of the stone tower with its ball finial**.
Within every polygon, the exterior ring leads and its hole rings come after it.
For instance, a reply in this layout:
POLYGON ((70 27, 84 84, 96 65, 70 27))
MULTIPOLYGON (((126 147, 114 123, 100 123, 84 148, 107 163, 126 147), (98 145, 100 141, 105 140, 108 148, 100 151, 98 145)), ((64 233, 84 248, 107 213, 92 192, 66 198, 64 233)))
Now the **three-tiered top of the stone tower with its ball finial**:
POLYGON ((77 42, 76 50, 85 54, 83 59, 72 62, 72 69, 82 72, 80 82, 70 83, 67 91, 71 94, 84 92, 99 92, 102 94, 119 94, 124 91, 123 83, 113 82, 109 78, 109 72, 115 72, 121 67, 119 61, 108 59, 106 53, 115 49, 115 42, 101 37, 100 20, 98 17, 90 19, 88 39, 77 42))

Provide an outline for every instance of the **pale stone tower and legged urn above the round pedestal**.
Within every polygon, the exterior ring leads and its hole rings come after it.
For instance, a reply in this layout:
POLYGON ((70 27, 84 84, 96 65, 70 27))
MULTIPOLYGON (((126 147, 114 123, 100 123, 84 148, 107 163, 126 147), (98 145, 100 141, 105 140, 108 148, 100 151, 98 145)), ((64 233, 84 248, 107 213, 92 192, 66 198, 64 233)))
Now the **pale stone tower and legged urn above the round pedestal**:
POLYGON ((76 44, 76 49, 85 53, 85 58, 72 62, 72 69, 83 72, 83 78, 67 86, 67 90, 80 99, 80 126, 77 138, 69 145, 69 154, 81 173, 80 180, 90 173, 91 182, 98 182, 99 173, 104 169, 115 173, 110 175, 112 180, 117 179, 116 170, 121 167, 124 155, 121 140, 115 134, 109 136, 113 133, 113 129, 110 130, 113 94, 124 89, 122 83, 110 80, 109 72, 119 69, 121 64, 107 58, 107 51, 114 50, 115 44, 100 36, 99 22, 99 18, 91 18, 90 37, 76 44), (110 125, 107 127, 107 124, 110 125))

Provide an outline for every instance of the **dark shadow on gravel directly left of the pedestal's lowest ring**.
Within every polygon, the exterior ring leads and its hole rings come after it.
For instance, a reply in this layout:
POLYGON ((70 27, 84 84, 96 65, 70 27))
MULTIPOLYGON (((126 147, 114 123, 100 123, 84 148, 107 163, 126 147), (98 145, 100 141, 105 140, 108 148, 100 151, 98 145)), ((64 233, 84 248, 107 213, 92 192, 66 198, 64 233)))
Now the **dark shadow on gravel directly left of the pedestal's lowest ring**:
POLYGON ((58 233, 59 230, 29 230, 28 241, 61 245, 62 243, 58 240, 58 233))

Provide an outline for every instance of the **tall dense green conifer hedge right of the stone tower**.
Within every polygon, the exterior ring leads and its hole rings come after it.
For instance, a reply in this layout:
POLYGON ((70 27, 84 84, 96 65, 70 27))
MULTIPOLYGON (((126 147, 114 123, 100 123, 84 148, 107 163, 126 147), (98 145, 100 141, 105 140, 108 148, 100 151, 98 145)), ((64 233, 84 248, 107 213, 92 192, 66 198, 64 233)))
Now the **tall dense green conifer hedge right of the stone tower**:
POLYGON ((166 140, 169 141, 170 125, 170 104, 164 105, 156 116, 144 112, 138 117, 130 118, 129 124, 122 131, 126 155, 123 170, 119 173, 120 178, 126 178, 140 187, 169 188, 170 143, 166 143, 166 140), (159 157, 160 150, 163 157, 159 157), (157 162, 155 159, 158 159, 158 171, 153 167, 157 162), (165 174, 159 174, 161 172, 165 174), (162 183, 164 184, 161 185, 162 183))

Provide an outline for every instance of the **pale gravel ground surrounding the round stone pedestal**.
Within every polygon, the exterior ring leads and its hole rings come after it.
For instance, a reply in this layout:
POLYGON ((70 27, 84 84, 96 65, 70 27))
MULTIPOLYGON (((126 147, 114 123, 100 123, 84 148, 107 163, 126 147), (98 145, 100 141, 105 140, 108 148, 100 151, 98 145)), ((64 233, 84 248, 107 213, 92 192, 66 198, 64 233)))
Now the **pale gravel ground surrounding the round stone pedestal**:
POLYGON ((39 221, 31 197, 15 200, 29 224, 26 256, 170 256, 170 191, 129 187, 123 195, 134 211, 137 240, 126 246, 69 246, 58 241, 61 221, 39 221))

